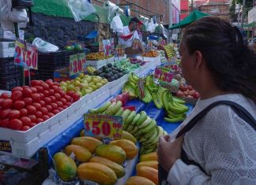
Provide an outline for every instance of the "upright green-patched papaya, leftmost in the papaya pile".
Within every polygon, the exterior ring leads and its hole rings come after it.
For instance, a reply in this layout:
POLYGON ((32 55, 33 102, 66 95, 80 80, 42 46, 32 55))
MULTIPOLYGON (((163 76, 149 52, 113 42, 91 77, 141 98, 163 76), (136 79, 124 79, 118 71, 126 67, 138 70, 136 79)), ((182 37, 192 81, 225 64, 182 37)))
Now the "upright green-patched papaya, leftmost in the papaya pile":
POLYGON ((60 179, 67 182, 77 176, 77 165, 73 159, 62 152, 58 152, 53 157, 55 170, 60 179))

